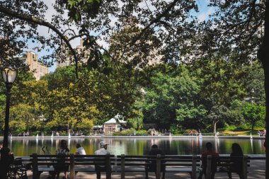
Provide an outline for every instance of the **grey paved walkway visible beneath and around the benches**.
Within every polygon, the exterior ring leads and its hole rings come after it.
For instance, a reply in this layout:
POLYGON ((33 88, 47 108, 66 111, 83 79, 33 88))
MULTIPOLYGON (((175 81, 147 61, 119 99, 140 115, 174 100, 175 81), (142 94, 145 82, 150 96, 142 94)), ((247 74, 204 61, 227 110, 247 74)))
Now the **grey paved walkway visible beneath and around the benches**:
MULTIPOLYGON (((248 167, 248 179, 264 179, 265 178, 265 160, 251 160, 250 167, 248 167)), ((47 179, 48 173, 42 173, 40 179, 47 179)), ((63 177, 63 173, 60 174, 60 179, 63 177)), ((31 179, 32 172, 28 171, 28 179, 31 179)), ((77 179, 95 179, 95 173, 79 172, 76 175, 77 179)), ((105 178, 105 173, 102 174, 102 179, 105 178)), ((120 173, 112 173, 113 179, 120 179, 120 173)), ((125 173, 125 178, 144 179, 144 173, 125 173)), ((149 173, 149 179, 154 179, 154 173, 149 173)), ((186 179, 190 178, 188 173, 166 173, 166 179, 186 179)), ((227 173, 216 173, 215 179, 226 179, 227 173)), ((233 179, 239 179, 239 176, 233 173, 233 179)))

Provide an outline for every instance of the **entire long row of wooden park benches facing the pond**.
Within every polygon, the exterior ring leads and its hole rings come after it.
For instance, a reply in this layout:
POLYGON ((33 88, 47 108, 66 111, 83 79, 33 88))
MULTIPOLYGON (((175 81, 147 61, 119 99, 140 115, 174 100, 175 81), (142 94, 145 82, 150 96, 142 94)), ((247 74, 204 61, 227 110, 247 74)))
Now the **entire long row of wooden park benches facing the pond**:
MULTIPOLYGON (((207 157, 207 163, 211 163, 211 156, 207 157)), ((222 170, 229 164, 229 155, 220 155, 220 164, 217 166, 217 173, 227 173, 222 170)), ((249 155, 244 156, 242 175, 247 175, 247 167, 250 166, 251 159, 265 159, 265 155, 249 155)), ((33 179, 40 178, 42 172, 55 172, 53 167, 59 160, 56 155, 37 155, 30 156, 33 166, 33 179)), ((61 159, 62 160, 62 159, 61 159)), ((105 163, 106 178, 111 178, 111 173, 120 173, 121 178, 125 178, 125 173, 132 172, 146 172, 147 166, 154 161, 156 163, 156 179, 161 178, 161 166, 165 166, 165 172, 173 173, 190 173, 190 178, 194 179, 198 177, 198 173, 202 172, 201 158, 200 156, 180 156, 180 155, 157 155, 157 156, 96 156, 96 155, 74 155, 70 154, 64 159, 69 163, 70 179, 76 178, 76 172, 92 172, 95 173, 94 165, 96 162, 105 163)), ((210 165, 210 164, 209 164, 210 165)), ((211 173, 211 167, 207 164, 207 173, 211 173)), ((153 171, 148 171, 153 172, 153 171)), ((210 175, 207 175, 210 176, 210 175)))

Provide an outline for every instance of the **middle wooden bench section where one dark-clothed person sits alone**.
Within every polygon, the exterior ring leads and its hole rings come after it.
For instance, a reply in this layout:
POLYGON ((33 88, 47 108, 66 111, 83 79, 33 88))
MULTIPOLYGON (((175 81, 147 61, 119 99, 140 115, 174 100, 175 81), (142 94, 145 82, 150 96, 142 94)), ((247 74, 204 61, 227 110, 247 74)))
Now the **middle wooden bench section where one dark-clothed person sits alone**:
MULTIPOLYGON (((117 156, 116 172, 121 173, 121 178, 125 178, 126 172, 146 172, 149 170, 151 162, 156 163, 156 179, 161 178, 161 166, 164 166, 165 172, 190 173, 191 178, 196 179, 196 173, 200 171, 200 157, 198 156, 117 156)), ((152 172, 152 171, 148 171, 152 172)))

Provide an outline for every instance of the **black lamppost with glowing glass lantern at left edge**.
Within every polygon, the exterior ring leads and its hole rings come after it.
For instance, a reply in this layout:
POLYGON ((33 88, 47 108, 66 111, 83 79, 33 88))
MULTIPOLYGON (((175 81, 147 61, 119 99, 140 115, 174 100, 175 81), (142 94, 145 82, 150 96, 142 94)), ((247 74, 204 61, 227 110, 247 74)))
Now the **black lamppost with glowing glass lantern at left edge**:
POLYGON ((7 66, 1 68, 1 76, 6 83, 6 117, 5 117, 5 127, 4 127, 4 141, 3 149, 1 149, 1 175, 0 178, 6 178, 6 173, 8 172, 8 130, 9 130, 9 107, 11 100, 11 87, 16 80, 18 71, 15 67, 7 66))

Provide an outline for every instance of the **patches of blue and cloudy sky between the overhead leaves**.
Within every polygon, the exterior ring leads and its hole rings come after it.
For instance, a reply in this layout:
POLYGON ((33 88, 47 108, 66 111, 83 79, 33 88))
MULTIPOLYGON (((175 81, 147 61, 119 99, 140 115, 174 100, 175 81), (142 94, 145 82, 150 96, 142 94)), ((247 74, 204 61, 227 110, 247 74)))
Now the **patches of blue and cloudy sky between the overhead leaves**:
MULTIPOLYGON (((167 0, 168 1, 168 0, 167 0)), ((168 2, 170 2, 171 0, 169 0, 168 2)), ((45 0, 45 4, 48 7, 47 12, 45 13, 45 17, 47 18, 48 22, 51 22, 52 19, 52 15, 55 13, 54 8, 52 7, 52 4, 55 2, 55 0, 45 0)), ((196 3, 198 4, 198 8, 200 10, 199 13, 194 13, 195 16, 198 17, 199 21, 205 21, 210 13, 214 12, 214 8, 210 8, 207 7, 207 4, 209 3, 209 0, 196 0, 196 3)), ((143 4, 142 4, 143 6, 143 4)), ((146 5, 144 5, 146 6, 146 5)), ((65 16, 67 16, 67 14, 65 14, 65 16)), ((112 23, 115 23, 115 21, 117 21, 116 19, 112 19, 112 23)), ((51 32, 52 30, 50 30, 51 32)), ((40 35, 44 35, 45 37, 48 37, 49 35, 49 29, 46 27, 38 27, 38 32, 40 33, 40 35)), ((103 42, 99 42, 101 45, 104 45, 105 47, 108 47, 107 44, 103 43, 103 42)), ((34 51, 33 47, 35 47, 37 44, 33 43, 33 42, 29 42, 28 44, 28 51, 34 51)), ((71 41, 71 45, 72 47, 76 47, 77 45, 79 45, 79 39, 76 38, 75 40, 71 41)), ((34 51, 35 52, 35 51, 34 51)), ((43 55, 47 54, 47 52, 45 50, 42 50, 41 52, 38 52, 38 57, 42 57, 43 55)), ((56 66, 52 66, 50 67, 49 71, 53 72, 55 71, 56 66)))

